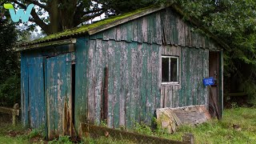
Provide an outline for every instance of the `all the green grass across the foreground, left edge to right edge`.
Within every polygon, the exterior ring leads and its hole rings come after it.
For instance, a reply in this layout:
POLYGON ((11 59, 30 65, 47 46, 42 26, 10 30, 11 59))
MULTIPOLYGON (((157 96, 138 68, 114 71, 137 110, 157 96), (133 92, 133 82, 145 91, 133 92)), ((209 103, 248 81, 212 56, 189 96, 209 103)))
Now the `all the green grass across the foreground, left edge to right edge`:
MULTIPOLYGON (((38 131, 29 132, 22 126, 11 126, 0 122, 0 144, 2 143, 43 143, 42 139, 31 141, 37 138, 38 131), (15 134, 12 134, 14 132, 15 134), (15 137, 14 137, 15 135, 15 137)), ((134 131, 141 134, 149 134, 172 140, 182 140, 182 135, 189 132, 194 134, 195 143, 256 143, 256 109, 255 108, 234 108, 224 110, 221 121, 211 120, 198 126, 182 126, 175 134, 167 134, 163 130, 152 131, 145 125, 136 125, 134 131)), ((54 139, 49 143, 72 143, 68 136, 54 139)), ((127 140, 115 138, 83 138, 81 143, 133 143, 127 140)))

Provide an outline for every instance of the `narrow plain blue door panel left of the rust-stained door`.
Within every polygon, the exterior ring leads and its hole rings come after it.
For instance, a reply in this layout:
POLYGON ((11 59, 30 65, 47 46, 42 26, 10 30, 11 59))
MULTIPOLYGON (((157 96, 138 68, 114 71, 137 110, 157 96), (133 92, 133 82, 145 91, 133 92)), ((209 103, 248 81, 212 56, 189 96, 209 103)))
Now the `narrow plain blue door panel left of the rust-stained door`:
POLYGON ((31 127, 39 128, 45 123, 43 58, 28 58, 27 66, 29 122, 31 127))

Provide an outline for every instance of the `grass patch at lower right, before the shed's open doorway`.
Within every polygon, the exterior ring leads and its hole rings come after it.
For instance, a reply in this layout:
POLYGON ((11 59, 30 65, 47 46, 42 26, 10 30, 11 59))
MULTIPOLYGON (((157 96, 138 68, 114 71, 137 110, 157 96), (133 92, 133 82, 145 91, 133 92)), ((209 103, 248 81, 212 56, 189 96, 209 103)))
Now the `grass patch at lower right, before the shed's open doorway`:
POLYGON ((175 134, 161 137, 181 140, 182 134, 194 134, 196 143, 256 143, 256 109, 224 110, 221 121, 211 120, 199 126, 182 126, 175 134))

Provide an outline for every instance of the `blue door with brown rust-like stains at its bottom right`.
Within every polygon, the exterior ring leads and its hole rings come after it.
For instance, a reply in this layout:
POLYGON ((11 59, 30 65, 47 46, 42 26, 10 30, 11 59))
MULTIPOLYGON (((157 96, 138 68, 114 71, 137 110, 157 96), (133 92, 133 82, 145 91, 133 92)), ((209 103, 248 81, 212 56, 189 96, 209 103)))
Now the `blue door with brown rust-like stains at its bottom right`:
POLYGON ((46 58, 48 138, 71 134, 71 54, 46 58))

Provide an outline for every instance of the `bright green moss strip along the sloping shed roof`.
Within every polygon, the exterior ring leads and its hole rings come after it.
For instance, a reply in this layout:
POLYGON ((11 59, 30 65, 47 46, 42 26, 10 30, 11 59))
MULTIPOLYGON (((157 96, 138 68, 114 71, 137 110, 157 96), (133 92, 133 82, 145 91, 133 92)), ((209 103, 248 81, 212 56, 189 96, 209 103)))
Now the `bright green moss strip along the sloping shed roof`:
POLYGON ((58 38, 62 38, 62 37, 70 36, 70 35, 75 35, 75 34, 86 34, 88 32, 88 30, 97 28, 98 26, 104 26, 106 24, 109 24, 110 22, 115 22, 117 20, 121 20, 123 18, 130 17, 134 14, 139 14, 143 11, 149 10, 152 7, 154 7, 154 6, 148 6, 146 8, 134 10, 133 12, 130 12, 130 13, 126 13, 126 14, 106 18, 102 21, 98 21, 98 22, 95 22, 93 24, 81 26, 81 27, 74 28, 74 29, 64 30, 60 33, 50 34, 50 35, 46 36, 45 38, 39 38, 39 39, 34 40, 32 42, 28 42, 25 45, 30 45, 30 44, 39 43, 39 42, 46 42, 46 41, 50 41, 50 40, 53 40, 53 39, 58 39, 58 38))

